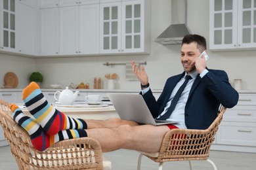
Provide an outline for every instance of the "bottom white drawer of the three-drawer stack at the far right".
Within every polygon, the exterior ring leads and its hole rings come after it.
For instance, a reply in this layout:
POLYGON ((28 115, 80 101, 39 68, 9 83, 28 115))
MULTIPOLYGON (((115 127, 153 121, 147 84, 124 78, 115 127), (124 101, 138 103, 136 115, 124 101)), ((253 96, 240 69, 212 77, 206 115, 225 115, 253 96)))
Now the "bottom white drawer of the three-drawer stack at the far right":
POLYGON ((221 122, 217 144, 256 146, 255 123, 221 122))

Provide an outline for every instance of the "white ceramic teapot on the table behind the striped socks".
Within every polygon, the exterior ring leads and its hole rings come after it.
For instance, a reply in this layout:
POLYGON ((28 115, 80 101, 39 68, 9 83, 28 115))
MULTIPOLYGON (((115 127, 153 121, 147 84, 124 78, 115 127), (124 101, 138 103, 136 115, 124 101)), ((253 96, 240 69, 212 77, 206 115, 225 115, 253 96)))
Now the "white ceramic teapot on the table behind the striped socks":
POLYGON ((65 90, 62 90, 62 92, 57 91, 54 93, 54 99, 56 101, 59 101, 61 105, 73 105, 75 98, 77 97, 77 94, 79 91, 76 91, 73 93, 71 90, 66 87, 65 90), (56 95, 59 93, 58 99, 56 98, 56 95))

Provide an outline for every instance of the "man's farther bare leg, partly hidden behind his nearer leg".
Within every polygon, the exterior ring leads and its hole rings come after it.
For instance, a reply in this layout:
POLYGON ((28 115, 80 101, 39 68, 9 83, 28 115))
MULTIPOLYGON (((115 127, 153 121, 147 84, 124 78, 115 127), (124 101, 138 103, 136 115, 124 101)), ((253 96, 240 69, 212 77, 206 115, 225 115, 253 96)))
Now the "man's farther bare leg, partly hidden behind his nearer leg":
POLYGON ((129 126, 138 126, 136 122, 128 121, 128 120, 121 120, 120 118, 111 118, 109 120, 85 120, 87 123, 87 129, 94 129, 94 128, 113 128, 119 127, 121 125, 129 125, 129 126))

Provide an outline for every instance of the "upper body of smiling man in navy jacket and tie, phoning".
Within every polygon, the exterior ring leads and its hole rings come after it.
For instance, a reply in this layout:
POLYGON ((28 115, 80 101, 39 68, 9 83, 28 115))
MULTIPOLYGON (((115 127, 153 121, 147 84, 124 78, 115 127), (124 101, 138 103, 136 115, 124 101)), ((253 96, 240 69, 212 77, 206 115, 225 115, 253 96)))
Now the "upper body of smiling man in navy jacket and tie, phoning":
POLYGON ((157 101, 150 90, 144 67, 141 65, 139 70, 133 61, 133 71, 140 80, 142 96, 154 118, 179 120, 180 124, 174 124, 179 128, 207 129, 217 117, 220 105, 227 108, 236 105, 238 93, 228 82, 226 72, 208 69, 205 57, 199 57, 205 50, 204 37, 184 36, 181 46, 184 72, 167 79, 157 101), (190 78, 186 82, 188 75, 190 78), (182 85, 182 92, 177 96, 182 85))

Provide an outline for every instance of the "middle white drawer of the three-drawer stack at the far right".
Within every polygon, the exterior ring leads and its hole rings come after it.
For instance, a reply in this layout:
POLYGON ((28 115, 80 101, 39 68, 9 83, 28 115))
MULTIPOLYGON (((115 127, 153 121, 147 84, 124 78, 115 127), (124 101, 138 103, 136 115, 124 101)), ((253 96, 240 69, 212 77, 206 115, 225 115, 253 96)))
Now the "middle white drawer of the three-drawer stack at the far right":
POLYGON ((256 106, 236 105, 227 109, 223 116, 225 122, 256 122, 256 106))

